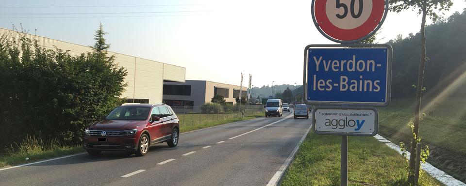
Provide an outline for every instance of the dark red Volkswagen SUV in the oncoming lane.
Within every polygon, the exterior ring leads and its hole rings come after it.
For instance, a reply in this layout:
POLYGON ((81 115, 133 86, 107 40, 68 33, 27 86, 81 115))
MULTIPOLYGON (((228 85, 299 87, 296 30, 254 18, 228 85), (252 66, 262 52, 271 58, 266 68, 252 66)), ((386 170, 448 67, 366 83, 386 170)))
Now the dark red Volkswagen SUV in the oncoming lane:
POLYGON ((176 147, 179 119, 166 104, 125 103, 84 130, 83 147, 90 155, 126 150, 146 155, 150 145, 176 147))

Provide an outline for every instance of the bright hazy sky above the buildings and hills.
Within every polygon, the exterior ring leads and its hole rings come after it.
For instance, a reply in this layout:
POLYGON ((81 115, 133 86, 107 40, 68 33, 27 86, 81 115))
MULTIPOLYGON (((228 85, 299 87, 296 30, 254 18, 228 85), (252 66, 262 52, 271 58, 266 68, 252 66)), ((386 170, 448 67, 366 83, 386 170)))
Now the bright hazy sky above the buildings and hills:
MULTIPOLYGON (((335 44, 314 26, 311 0, 0 1, 1 28, 92 46, 101 23, 110 51, 183 66, 189 80, 239 85, 243 73, 243 86, 248 74, 255 87, 300 85, 304 47, 335 44)), ((445 17, 466 8, 452 1, 445 17)), ((415 11, 389 12, 376 42, 416 33, 420 24, 415 11)))

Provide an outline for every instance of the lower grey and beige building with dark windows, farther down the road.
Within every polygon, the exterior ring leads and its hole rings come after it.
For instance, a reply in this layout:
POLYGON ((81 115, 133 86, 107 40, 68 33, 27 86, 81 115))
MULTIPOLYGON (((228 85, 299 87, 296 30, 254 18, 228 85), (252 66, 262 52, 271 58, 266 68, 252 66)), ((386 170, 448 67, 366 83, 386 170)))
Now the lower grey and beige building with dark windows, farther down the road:
MULTIPOLYGON (((247 88, 242 88, 242 95, 246 97, 247 88)), ((164 82, 163 103, 169 106, 200 106, 211 102, 214 95, 222 95, 227 103, 236 104, 240 87, 225 83, 202 80, 186 80, 180 82, 164 82)))

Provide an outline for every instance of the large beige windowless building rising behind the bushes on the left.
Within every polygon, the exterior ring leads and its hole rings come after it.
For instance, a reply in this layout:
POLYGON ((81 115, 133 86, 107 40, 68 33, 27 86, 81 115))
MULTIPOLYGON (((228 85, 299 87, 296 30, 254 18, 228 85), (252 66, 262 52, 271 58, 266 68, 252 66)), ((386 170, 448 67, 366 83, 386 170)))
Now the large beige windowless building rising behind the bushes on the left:
MULTIPOLYGON (((7 39, 19 38, 17 31, 0 28, 0 37, 7 39)), ((80 55, 92 51, 91 47, 58 41, 46 37, 26 34, 26 37, 37 40, 41 47, 55 50, 55 47, 62 50, 69 50, 70 55, 80 55)), ((125 77, 127 83, 126 91, 121 95, 128 99, 128 102, 140 103, 162 103, 163 85, 165 81, 184 82, 185 68, 146 60, 134 56, 108 52, 115 55, 115 62, 118 66, 126 68, 128 75, 125 77)))

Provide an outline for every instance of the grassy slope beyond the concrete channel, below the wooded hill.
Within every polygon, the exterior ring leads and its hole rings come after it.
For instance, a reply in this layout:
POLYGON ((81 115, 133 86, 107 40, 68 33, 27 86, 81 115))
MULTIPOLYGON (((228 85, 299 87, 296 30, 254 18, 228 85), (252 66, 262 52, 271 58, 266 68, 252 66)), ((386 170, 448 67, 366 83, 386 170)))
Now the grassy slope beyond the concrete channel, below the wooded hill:
MULTIPOLYGON (((422 146, 429 145, 429 163, 456 179, 466 182, 466 99, 448 97, 442 101, 423 98, 425 116, 419 123, 422 146), (426 108, 425 105, 434 105, 426 108)), ((407 147, 411 145, 414 99, 393 99, 379 109, 379 134, 407 147)), ((409 148, 408 148, 409 149, 409 148)))

